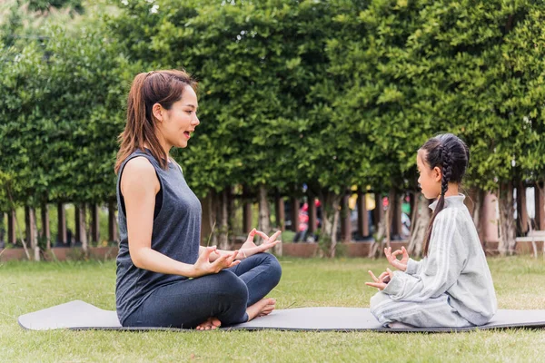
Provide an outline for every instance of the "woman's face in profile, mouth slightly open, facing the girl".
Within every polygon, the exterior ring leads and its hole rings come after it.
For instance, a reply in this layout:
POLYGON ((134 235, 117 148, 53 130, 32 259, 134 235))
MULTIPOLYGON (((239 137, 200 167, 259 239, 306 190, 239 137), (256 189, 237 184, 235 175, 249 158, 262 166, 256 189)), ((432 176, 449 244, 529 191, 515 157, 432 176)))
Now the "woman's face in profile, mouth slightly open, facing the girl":
POLYGON ((159 132, 168 149, 172 146, 184 148, 191 138, 191 133, 200 123, 197 118, 197 94, 186 86, 182 99, 173 103, 170 110, 161 110, 159 132))

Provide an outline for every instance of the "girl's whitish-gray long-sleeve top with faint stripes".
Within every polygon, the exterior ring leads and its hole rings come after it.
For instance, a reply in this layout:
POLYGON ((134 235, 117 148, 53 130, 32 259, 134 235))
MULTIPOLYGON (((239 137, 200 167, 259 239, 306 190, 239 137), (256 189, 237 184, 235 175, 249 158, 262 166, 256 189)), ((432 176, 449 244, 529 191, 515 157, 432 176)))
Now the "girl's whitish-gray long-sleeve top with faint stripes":
MULTIPOLYGON (((409 260, 395 271, 383 292, 393 300, 420 302, 450 296, 450 304, 475 325, 486 324, 498 309, 490 269, 464 195, 445 198, 433 221, 428 256, 409 260)), ((437 201, 431 203, 435 209, 437 201)))

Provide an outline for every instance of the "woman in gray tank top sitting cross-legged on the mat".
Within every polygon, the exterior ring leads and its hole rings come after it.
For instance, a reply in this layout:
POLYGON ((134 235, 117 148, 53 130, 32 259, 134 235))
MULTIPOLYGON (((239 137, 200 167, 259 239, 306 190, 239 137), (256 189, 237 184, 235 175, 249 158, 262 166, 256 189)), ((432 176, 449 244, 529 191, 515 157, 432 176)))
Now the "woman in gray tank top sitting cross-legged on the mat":
POLYGON ((274 309, 263 299, 280 281, 279 243, 251 231, 240 250, 199 245, 201 203, 169 157, 184 148, 197 118, 196 83, 182 71, 134 78, 115 172, 120 249, 115 298, 124 327, 215 329, 274 309), (259 235, 263 244, 256 246, 259 235))

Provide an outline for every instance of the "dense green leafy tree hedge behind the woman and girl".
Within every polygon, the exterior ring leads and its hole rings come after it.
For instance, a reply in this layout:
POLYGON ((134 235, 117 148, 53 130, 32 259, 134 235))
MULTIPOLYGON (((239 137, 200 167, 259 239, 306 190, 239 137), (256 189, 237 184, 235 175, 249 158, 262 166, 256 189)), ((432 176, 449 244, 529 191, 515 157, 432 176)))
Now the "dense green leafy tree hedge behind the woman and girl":
POLYGON ((128 83, 160 68, 200 83, 201 125, 174 152, 193 189, 288 195, 306 183, 329 208, 333 241, 346 190, 416 188, 416 150, 439 132, 470 145, 472 186, 545 176, 539 2, 110 6, 78 15, 70 31, 33 28, 26 41, 11 36, 29 34, 23 18, 5 13, 14 21, 0 31, 0 157, 19 203, 112 198, 128 83))

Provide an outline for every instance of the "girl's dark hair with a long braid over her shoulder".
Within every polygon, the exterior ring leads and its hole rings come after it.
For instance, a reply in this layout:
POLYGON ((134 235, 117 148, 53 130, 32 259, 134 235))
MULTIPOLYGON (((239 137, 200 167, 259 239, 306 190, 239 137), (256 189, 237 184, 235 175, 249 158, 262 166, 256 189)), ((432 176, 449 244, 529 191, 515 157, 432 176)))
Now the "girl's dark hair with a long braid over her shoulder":
POLYGON ((465 142, 452 133, 443 133, 424 143, 421 150, 426 152, 425 162, 430 166, 430 169, 437 166, 441 168, 442 172, 441 196, 431 215, 426 231, 426 240, 424 240, 424 256, 427 256, 433 221, 445 207, 445 193, 449 189, 449 182, 461 183, 470 163, 470 149, 465 142))

